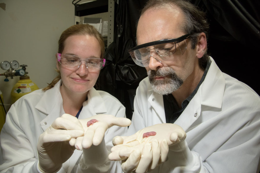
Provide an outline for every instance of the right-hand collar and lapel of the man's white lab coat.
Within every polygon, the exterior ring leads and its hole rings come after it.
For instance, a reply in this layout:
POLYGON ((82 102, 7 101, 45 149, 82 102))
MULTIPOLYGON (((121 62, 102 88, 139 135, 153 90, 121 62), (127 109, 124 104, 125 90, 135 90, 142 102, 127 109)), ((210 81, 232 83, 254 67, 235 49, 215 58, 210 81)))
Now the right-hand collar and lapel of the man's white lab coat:
POLYGON ((200 117, 201 105, 216 108, 222 107, 225 78, 211 57, 209 61, 211 64, 204 81, 180 117, 174 122, 174 124, 178 124, 186 132, 200 117))

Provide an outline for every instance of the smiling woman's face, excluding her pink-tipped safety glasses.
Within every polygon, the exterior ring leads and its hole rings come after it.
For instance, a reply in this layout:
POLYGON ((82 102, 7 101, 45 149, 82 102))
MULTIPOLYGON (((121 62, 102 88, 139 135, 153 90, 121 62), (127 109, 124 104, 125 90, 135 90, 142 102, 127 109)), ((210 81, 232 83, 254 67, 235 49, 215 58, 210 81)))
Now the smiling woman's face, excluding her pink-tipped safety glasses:
MULTIPOLYGON (((65 40, 64 50, 59 53, 76 55, 82 59, 86 59, 100 58, 101 50, 99 42, 94 36, 73 35, 65 40)), ((61 65, 58 61, 56 63, 61 73, 61 92, 70 94, 87 93, 95 85, 99 76, 100 70, 90 71, 87 69, 85 63, 82 63, 79 68, 67 67, 61 65)))

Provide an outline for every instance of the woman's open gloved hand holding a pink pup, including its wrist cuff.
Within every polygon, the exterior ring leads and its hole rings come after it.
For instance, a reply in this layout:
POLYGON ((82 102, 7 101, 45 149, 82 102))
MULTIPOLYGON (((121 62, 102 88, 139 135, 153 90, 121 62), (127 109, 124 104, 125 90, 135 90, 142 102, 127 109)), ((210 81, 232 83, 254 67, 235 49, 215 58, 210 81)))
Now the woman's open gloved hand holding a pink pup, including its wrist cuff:
POLYGON ((129 126, 131 120, 113 115, 98 114, 79 121, 84 128, 85 134, 75 141, 71 140, 70 144, 74 144, 76 149, 83 151, 80 160, 81 170, 106 172, 109 169, 109 152, 104 140, 105 132, 112 126, 129 126))

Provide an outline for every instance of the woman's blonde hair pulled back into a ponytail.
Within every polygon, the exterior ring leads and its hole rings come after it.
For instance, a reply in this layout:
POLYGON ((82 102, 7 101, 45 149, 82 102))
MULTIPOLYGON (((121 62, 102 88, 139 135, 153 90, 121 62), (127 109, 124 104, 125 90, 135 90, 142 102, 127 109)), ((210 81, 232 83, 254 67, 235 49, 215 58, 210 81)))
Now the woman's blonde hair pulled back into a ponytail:
MULTIPOLYGON (((89 24, 79 24, 79 25, 73 25, 70 26, 68 29, 62 32, 60 39, 59 39, 59 49, 58 53, 62 53, 64 49, 64 43, 65 40, 69 36, 73 35, 89 35, 89 36, 94 36, 97 41, 99 42, 100 45, 100 50, 101 50, 101 58, 104 58, 105 54, 105 44, 102 35, 96 30, 96 28, 92 25, 89 24)), ((53 81, 48 84, 47 87, 43 88, 43 91, 47 91, 48 89, 54 87, 54 85, 61 79, 61 74, 58 69, 55 69, 59 74, 57 75, 56 78, 53 79, 53 81)))

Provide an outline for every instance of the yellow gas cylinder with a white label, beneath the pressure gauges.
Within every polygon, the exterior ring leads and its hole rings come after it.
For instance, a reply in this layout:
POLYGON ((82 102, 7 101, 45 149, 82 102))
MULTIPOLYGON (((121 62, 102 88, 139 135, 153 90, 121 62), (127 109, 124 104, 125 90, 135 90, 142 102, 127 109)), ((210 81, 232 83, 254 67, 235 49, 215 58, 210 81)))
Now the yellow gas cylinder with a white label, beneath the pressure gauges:
POLYGON ((20 97, 28 94, 32 91, 39 89, 38 86, 30 80, 27 75, 20 76, 20 80, 15 84, 11 91, 11 102, 12 104, 18 100, 20 97))

